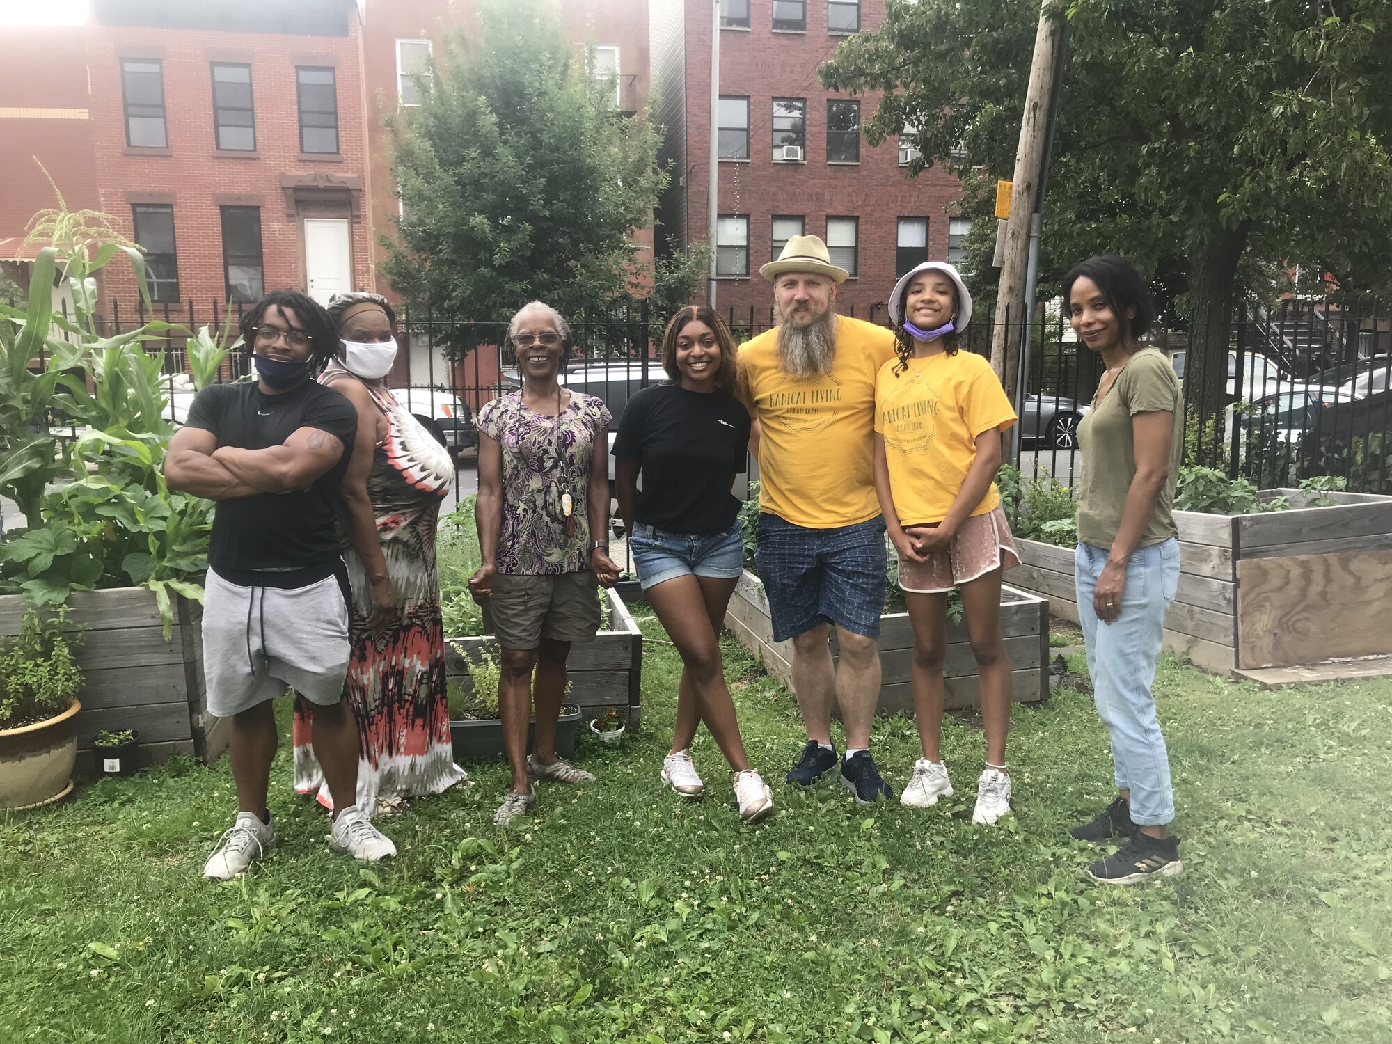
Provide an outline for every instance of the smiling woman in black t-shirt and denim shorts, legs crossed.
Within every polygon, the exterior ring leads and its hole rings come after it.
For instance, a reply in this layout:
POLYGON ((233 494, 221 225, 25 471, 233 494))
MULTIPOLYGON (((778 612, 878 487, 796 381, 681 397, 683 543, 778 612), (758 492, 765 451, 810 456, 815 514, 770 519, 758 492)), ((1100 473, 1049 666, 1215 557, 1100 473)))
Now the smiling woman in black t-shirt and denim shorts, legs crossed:
POLYGON ((704 793, 690 757, 704 721, 735 770, 739 817, 754 823, 773 812, 773 795, 745 756, 720 654, 725 606, 745 560, 739 501, 729 490, 749 445, 749 413, 732 394, 735 341, 720 315, 697 305, 677 313, 663 337, 663 369, 671 380, 629 400, 614 441, 633 565, 682 657, 661 778, 683 798, 704 793))

